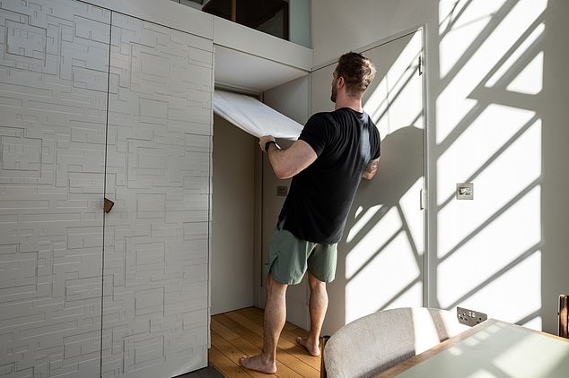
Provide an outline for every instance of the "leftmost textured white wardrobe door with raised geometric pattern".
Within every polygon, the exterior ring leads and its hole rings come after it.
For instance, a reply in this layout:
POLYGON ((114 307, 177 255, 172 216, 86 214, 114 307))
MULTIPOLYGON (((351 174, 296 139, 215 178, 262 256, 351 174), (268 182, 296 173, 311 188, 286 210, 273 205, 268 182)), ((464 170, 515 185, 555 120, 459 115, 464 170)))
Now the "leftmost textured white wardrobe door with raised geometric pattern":
POLYGON ((110 13, 0 2, 0 375, 98 377, 110 13))

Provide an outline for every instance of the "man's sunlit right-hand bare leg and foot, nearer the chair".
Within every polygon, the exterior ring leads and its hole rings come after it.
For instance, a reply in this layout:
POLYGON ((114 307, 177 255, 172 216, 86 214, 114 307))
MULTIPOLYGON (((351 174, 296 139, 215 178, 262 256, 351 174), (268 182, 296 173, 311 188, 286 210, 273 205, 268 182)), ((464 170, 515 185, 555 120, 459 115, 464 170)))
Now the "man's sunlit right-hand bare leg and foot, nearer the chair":
POLYGON ((320 355, 320 332, 328 309, 328 292, 326 283, 320 281, 308 272, 308 284, 311 288, 309 311, 311 313, 311 331, 308 338, 298 338, 297 342, 306 348, 312 356, 320 355))

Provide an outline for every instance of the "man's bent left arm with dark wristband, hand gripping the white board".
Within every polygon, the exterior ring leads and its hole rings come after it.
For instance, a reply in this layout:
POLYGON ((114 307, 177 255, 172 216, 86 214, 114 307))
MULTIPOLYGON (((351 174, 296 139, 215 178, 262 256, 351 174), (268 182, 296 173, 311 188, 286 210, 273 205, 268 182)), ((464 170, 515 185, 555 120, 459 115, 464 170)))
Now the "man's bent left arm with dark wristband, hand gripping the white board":
MULTIPOLYGON (((265 150, 269 141, 275 141, 275 138, 270 135, 259 138, 258 145, 261 150, 265 150)), ((275 171, 275 175, 283 180, 291 178, 310 166, 318 158, 318 155, 310 144, 299 140, 286 150, 281 150, 276 143, 269 143, 267 158, 273 171, 275 171)))

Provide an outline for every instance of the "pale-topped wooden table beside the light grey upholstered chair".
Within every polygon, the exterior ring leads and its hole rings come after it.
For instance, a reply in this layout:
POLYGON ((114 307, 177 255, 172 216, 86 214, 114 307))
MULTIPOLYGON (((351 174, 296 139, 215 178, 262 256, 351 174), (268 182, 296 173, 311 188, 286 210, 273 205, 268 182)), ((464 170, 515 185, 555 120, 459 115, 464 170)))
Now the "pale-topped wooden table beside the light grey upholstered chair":
POLYGON ((568 378, 569 339, 488 319, 376 377, 568 378))

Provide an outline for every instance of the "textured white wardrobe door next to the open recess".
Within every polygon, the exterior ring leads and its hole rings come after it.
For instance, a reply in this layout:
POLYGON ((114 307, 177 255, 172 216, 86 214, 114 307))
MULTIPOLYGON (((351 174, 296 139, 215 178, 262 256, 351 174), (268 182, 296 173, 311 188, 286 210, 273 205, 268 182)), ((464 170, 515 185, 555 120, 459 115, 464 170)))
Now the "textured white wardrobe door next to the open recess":
POLYGON ((213 44, 112 14, 102 375, 207 365, 213 44))

